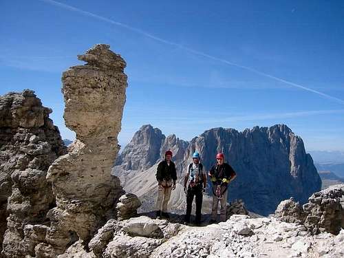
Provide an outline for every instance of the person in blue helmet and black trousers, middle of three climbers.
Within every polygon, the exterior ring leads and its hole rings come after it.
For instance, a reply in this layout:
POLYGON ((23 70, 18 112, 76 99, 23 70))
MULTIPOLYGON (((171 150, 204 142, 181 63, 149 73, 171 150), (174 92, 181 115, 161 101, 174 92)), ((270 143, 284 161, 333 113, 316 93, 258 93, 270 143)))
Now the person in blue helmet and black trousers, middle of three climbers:
POLYGON ((196 200, 195 223, 201 223, 201 210, 203 192, 206 191, 206 173, 203 172, 203 165, 200 163, 200 153, 193 153, 193 163, 189 164, 184 178, 184 192, 186 193, 186 215, 185 223, 190 223, 190 216, 193 204, 193 197, 196 200), (187 186, 189 182, 189 186, 187 186), (186 188, 187 186, 187 188, 186 188))

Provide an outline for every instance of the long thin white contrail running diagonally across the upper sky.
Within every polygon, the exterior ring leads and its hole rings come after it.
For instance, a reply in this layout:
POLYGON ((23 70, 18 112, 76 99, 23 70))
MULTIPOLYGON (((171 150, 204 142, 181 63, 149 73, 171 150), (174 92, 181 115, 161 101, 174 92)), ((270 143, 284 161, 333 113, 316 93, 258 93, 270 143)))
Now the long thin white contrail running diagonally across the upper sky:
POLYGON ((341 98, 336 98, 336 97, 334 97, 334 96, 330 96, 330 95, 324 94, 323 92, 318 92, 318 91, 316 91, 315 89, 310 89, 310 88, 305 87, 305 86, 303 86, 303 85, 299 85, 299 84, 297 84, 297 83, 292 83, 292 82, 290 82, 290 81, 288 81, 288 80, 284 80, 284 79, 282 79, 282 78, 278 78, 278 77, 276 77, 276 76, 272 76, 272 75, 270 75, 270 74, 266 74, 266 73, 264 73, 264 72, 260 72, 260 71, 258 71, 258 70, 256 70, 256 69, 253 69, 253 68, 248 67, 248 66, 245 66, 245 65, 239 65, 239 64, 237 64, 237 63, 233 63, 233 62, 227 61, 227 60, 225 60, 225 59, 218 58, 218 57, 216 57, 216 56, 211 56, 210 54, 206 54, 206 53, 204 53, 204 52, 200 52, 200 51, 197 51, 197 50, 193 50, 193 49, 190 48, 190 47, 185 47, 184 45, 180 45, 180 44, 174 43, 174 42, 172 42, 172 41, 166 41, 165 39, 161 39, 161 38, 159 38, 158 36, 154 36, 154 35, 152 35, 152 34, 149 34, 149 33, 147 33, 147 32, 144 32, 143 30, 140 30, 140 29, 138 29, 138 28, 133 28, 133 27, 131 27, 131 26, 125 24, 125 23, 120 23, 120 22, 118 22, 118 21, 113 21, 113 20, 111 20, 111 19, 108 19, 108 18, 105 18, 105 17, 101 17, 100 15, 93 14, 92 12, 87 12, 87 11, 81 10, 81 9, 79 9, 79 8, 75 8, 75 7, 73 7, 73 6, 68 6, 68 5, 66 5, 65 3, 60 3, 60 2, 58 2, 58 1, 54 1, 54 0, 39 0, 39 1, 44 1, 44 2, 46 2, 46 3, 50 3, 50 4, 54 5, 54 6, 58 6, 58 7, 60 7, 60 8, 64 8, 64 9, 69 10, 69 11, 78 12, 78 13, 83 14, 83 15, 86 15, 86 16, 88 16, 88 17, 92 17, 92 18, 98 19, 98 20, 100 20, 100 21, 105 21, 105 22, 107 22, 107 23, 111 23, 111 24, 114 24, 114 25, 118 25, 118 26, 120 26, 120 27, 126 28, 126 29, 128 29, 128 30, 133 31, 133 32, 137 32, 137 33, 139 33, 139 34, 142 34, 142 35, 144 35, 144 36, 147 36, 147 37, 149 37, 150 39, 154 39, 155 41, 159 41, 159 42, 161 42, 161 43, 165 43, 165 44, 168 44, 168 45, 173 45, 173 46, 175 46, 175 47, 180 47, 180 48, 182 48, 183 50, 186 50, 187 52, 190 52, 190 53, 193 53, 193 54, 197 54, 197 55, 199 55, 199 56, 204 56, 204 57, 206 57, 206 58, 210 58, 210 59, 213 59, 213 60, 215 60, 215 61, 219 61, 219 62, 225 63, 225 64, 227 64, 227 65, 233 65, 233 66, 239 67, 239 68, 241 68, 241 69, 246 69, 246 70, 248 70, 248 71, 250 71, 250 72, 254 72, 255 74, 259 74, 259 75, 261 75, 261 76, 265 76, 265 77, 271 78, 271 79, 273 79, 273 80, 277 80, 277 81, 279 81, 279 82, 281 82, 281 83, 286 83, 286 84, 288 84, 288 85, 290 85, 290 86, 292 86, 292 87, 297 87, 297 88, 299 88, 299 89, 304 89, 305 91, 312 92, 312 93, 318 94, 318 95, 320 95, 320 96, 323 96, 324 98, 328 98, 328 99, 330 99, 330 100, 335 100, 337 103, 344 104, 344 100, 342 100, 341 98))

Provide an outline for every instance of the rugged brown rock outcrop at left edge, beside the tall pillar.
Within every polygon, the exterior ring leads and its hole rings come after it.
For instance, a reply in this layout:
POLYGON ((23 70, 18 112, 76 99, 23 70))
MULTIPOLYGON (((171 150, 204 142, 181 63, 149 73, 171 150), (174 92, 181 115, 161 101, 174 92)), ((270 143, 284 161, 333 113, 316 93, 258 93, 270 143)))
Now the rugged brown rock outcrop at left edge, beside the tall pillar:
POLYGON ((32 253, 25 234, 44 223, 55 205, 45 176, 65 147, 51 112, 29 89, 0 96, 0 250, 3 246, 5 257, 32 253))

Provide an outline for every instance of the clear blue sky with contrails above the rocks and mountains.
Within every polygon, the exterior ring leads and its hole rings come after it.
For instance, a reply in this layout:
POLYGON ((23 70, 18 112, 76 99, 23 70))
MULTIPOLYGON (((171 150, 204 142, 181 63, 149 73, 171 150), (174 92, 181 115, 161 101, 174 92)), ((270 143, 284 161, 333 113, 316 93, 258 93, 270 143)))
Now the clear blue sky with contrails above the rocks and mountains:
POLYGON ((344 1, 0 1, 0 94, 34 89, 63 138, 61 73, 96 43, 127 62, 120 144, 141 125, 288 125, 344 151, 344 1))

